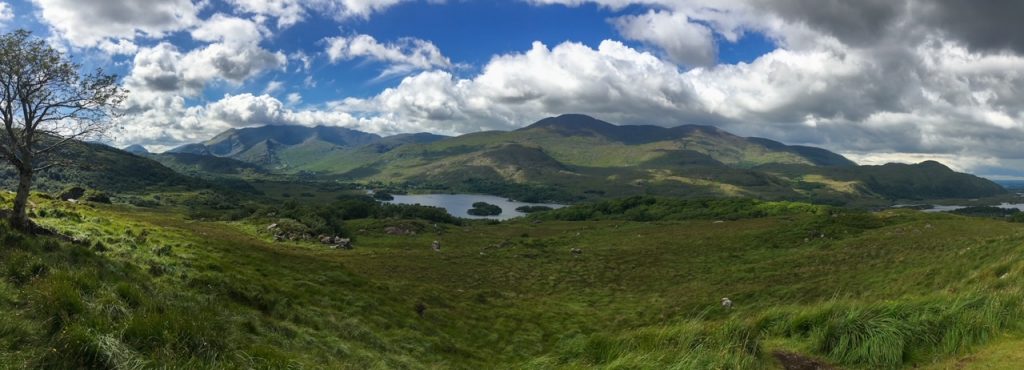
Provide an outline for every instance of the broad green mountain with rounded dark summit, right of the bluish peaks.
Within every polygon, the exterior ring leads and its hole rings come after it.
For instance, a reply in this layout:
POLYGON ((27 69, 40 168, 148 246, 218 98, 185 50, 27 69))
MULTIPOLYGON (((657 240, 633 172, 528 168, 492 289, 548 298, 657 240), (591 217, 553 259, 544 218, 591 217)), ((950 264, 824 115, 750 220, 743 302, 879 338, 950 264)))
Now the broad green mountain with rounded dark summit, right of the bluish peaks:
POLYGON ((511 132, 403 146, 343 163, 332 168, 321 162, 316 170, 438 190, 514 198, 532 194, 531 200, 542 194, 563 201, 656 194, 846 203, 1005 193, 989 180, 941 165, 857 166, 826 150, 740 137, 714 127, 616 126, 582 115, 548 118, 511 132), (364 164, 353 167, 353 162, 364 164))

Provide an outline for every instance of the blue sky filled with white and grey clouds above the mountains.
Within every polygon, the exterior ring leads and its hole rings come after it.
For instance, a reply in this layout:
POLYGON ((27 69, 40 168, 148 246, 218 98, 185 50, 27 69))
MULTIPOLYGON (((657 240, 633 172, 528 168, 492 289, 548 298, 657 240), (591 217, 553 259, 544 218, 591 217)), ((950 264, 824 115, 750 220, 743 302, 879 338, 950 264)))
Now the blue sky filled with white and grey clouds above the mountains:
POLYGON ((112 145, 583 113, 1024 177, 1024 1, 2 0, 130 90, 112 145))

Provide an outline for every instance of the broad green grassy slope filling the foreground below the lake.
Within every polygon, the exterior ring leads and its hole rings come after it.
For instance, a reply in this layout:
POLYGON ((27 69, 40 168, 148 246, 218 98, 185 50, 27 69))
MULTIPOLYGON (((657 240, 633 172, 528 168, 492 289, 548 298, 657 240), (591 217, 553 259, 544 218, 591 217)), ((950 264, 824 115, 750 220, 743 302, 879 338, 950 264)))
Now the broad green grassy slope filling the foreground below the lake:
POLYGON ((34 202, 81 242, 0 228, 14 368, 970 368, 1016 356, 1024 319, 1024 225, 984 218, 638 199, 347 219, 336 250, 264 218, 34 202))

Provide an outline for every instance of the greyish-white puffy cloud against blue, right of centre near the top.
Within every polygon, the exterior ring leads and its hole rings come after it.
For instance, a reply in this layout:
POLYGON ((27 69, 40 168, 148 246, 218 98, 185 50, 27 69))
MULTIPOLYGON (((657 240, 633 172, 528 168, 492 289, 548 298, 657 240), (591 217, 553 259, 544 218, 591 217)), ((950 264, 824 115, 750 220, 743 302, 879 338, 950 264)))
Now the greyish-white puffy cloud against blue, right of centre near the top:
POLYGON ((715 64, 717 50, 712 31, 690 22, 682 12, 650 10, 621 16, 613 23, 623 37, 657 46, 675 63, 690 67, 715 64))

